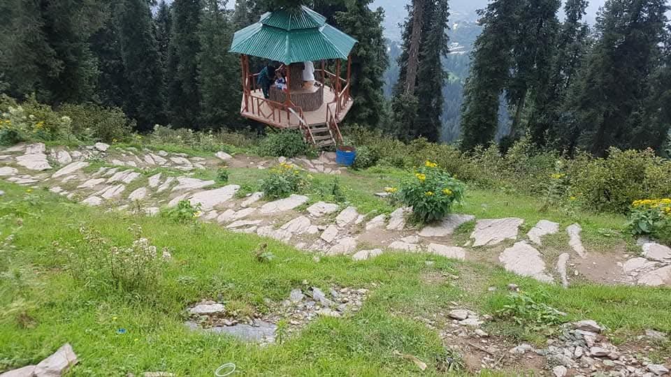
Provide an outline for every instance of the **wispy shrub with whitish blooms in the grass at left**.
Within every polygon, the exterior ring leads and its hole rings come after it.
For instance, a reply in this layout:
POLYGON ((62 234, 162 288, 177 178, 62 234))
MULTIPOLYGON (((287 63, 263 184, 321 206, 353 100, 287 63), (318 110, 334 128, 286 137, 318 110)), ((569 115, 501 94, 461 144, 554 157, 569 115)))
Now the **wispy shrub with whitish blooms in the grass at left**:
POLYGON ((134 235, 130 246, 114 246, 99 232, 81 226, 81 239, 76 244, 54 242, 57 251, 68 260, 67 268, 86 286, 109 283, 113 288, 127 291, 153 290, 161 266, 171 259, 168 249, 159 252, 157 246, 143 237, 142 228, 128 228, 134 235))

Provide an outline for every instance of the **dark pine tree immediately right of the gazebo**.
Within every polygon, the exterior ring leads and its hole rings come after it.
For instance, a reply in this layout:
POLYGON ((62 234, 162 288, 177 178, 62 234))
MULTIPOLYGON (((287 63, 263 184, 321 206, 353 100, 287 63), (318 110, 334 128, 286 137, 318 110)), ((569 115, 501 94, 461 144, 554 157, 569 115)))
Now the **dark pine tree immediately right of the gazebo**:
POLYGON ((369 127, 380 125, 384 112, 383 75, 389 65, 382 21, 384 10, 370 10, 372 0, 349 0, 347 12, 335 14, 338 27, 356 38, 352 50, 351 95, 354 105, 348 121, 369 127))

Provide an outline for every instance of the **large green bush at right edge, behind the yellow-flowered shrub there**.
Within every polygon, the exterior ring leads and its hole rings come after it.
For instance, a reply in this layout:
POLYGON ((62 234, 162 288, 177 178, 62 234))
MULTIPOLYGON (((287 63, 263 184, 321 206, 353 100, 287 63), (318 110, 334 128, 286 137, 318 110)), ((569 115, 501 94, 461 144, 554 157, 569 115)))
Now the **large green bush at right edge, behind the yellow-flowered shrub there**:
POLYGON ((582 156, 572 161, 572 195, 596 211, 628 211, 640 198, 667 198, 671 193, 671 161, 654 151, 608 150, 607 158, 582 156))

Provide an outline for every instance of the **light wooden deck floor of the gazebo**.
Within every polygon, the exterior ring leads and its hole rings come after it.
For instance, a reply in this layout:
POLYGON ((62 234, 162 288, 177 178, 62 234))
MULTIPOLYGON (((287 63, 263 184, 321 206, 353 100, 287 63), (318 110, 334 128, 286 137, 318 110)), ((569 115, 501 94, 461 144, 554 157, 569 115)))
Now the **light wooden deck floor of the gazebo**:
MULTIPOLYGON (((243 101, 240 105, 241 111, 240 114, 248 119, 253 119, 260 121, 261 123, 268 124, 277 128, 289 128, 294 129, 298 128, 301 124, 300 115, 294 110, 287 110, 284 106, 280 108, 279 106, 274 106, 272 102, 267 101, 264 98, 264 94, 261 89, 251 91, 250 98, 247 98, 247 104, 245 104, 245 98, 243 96, 243 101), (245 106, 246 105, 246 106, 245 106), (245 111, 245 108, 247 111, 245 111)), ((331 87, 324 87, 324 103, 322 106, 315 111, 305 111, 303 112, 303 117, 305 121, 308 122, 308 126, 322 126, 326 125, 326 106, 331 105, 331 109, 335 108, 335 91, 331 87)), ((345 118, 349 109, 352 108, 352 99, 342 106, 340 112, 338 113, 338 120, 345 118)))

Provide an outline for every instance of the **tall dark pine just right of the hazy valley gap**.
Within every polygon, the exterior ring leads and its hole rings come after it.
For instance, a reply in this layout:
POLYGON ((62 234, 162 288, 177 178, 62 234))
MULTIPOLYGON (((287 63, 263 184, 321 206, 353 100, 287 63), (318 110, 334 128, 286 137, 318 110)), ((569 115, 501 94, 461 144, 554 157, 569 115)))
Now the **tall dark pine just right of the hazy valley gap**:
POLYGON ((471 52, 461 112, 461 148, 486 146, 496 135, 498 107, 513 64, 517 2, 493 0, 480 12, 482 33, 471 52))

